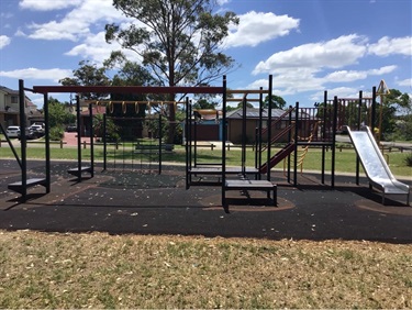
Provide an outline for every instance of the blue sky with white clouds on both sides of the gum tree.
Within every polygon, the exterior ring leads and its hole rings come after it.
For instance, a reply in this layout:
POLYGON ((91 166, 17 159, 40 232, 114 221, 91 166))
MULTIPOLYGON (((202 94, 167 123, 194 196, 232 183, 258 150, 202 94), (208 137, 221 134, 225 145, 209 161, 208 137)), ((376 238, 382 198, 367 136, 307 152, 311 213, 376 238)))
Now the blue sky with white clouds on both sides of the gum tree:
MULTIPOLYGON (((324 90, 331 98, 368 96, 381 79, 411 95, 411 2, 220 0, 216 10, 240 18, 223 45, 240 66, 227 86, 267 88, 271 74, 276 95, 305 107, 324 90)), ((111 22, 130 22, 111 0, 1 0, 0 85, 18 89, 20 78, 26 87, 58 85, 80 60, 101 64, 118 49, 104 42, 111 22)), ((41 108, 42 97, 27 95, 41 108)))

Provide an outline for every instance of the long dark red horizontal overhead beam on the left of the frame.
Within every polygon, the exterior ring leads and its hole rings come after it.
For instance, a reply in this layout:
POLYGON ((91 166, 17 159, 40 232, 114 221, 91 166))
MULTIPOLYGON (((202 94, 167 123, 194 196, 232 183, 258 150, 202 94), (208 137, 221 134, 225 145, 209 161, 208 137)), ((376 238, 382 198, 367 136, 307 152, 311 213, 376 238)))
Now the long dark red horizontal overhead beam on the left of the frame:
POLYGON ((223 87, 185 86, 34 86, 34 92, 96 92, 96 93, 223 93, 223 87))

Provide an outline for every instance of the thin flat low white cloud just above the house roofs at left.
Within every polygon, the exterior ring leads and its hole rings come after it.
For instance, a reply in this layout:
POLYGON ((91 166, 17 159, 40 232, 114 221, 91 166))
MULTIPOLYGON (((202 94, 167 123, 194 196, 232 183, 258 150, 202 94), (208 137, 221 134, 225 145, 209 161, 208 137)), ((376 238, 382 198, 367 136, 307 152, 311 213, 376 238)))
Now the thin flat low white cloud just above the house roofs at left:
POLYGON ((37 68, 25 68, 16 69, 11 71, 0 71, 0 76, 9 77, 14 79, 41 79, 51 80, 57 82, 59 79, 73 76, 69 69, 37 69, 37 68))

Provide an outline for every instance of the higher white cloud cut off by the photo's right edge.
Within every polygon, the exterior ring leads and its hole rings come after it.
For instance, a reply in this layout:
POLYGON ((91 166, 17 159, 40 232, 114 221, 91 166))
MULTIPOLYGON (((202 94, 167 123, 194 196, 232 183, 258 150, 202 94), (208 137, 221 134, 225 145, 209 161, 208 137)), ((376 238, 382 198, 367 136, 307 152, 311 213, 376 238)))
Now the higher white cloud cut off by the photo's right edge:
POLYGON ((368 53, 378 56, 394 54, 412 56, 412 36, 393 37, 383 36, 377 43, 368 46, 368 53))

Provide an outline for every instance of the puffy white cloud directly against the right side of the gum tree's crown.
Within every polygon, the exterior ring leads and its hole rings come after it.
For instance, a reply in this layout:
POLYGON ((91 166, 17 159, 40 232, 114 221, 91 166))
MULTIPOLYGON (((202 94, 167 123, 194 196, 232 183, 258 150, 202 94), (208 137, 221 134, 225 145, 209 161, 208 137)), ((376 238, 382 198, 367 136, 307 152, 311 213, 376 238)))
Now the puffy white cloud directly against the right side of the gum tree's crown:
POLYGON ((298 19, 274 13, 250 11, 238 18, 238 25, 230 27, 230 34, 224 42, 226 47, 256 46, 278 36, 285 36, 299 26, 298 19))

